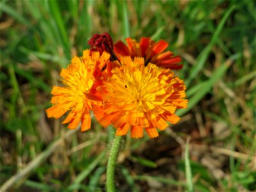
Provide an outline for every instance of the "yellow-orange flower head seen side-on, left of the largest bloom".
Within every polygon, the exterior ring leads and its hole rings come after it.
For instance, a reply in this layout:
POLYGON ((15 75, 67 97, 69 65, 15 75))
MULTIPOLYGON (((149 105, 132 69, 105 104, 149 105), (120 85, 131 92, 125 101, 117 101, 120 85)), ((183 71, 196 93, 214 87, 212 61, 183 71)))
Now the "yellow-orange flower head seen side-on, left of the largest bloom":
POLYGON ((53 86, 52 107, 46 109, 48 117, 60 118, 67 111, 70 111, 67 118, 62 122, 67 124, 69 129, 76 129, 81 122, 81 131, 90 129, 90 110, 96 101, 86 98, 86 93, 90 91, 95 77, 93 73, 96 69, 102 69, 109 61, 110 55, 103 52, 91 52, 86 50, 83 57, 75 56, 68 68, 61 70, 62 83, 65 86, 53 86))

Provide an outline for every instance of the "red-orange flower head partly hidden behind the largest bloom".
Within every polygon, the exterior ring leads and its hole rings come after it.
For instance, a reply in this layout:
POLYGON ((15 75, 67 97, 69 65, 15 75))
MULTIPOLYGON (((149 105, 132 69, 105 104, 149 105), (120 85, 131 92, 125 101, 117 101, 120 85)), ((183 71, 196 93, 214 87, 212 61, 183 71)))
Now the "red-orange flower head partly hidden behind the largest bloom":
POLYGON ((146 66, 148 63, 154 63, 159 67, 170 69, 180 69, 183 67, 183 65, 180 65, 180 56, 173 56, 171 51, 164 52, 168 47, 168 43, 164 40, 159 40, 157 43, 145 37, 141 38, 140 42, 136 42, 136 40, 130 37, 125 40, 127 45, 122 41, 118 41, 114 45, 114 51, 118 58, 121 56, 143 57, 146 66))

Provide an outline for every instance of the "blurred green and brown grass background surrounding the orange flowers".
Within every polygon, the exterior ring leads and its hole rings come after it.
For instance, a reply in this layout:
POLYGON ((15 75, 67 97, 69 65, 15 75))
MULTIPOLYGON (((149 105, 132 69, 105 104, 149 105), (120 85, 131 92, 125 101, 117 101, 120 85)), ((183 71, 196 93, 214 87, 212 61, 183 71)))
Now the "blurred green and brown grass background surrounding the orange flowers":
POLYGON ((2 191, 104 191, 115 129, 47 119, 52 85, 95 33, 166 40, 189 99, 156 139, 122 142, 119 191, 255 191, 255 1, 1 1, 2 191), (186 141, 189 141, 187 151, 186 141), (189 155, 189 156, 188 156, 189 155), (189 166, 191 170, 189 170, 189 166))

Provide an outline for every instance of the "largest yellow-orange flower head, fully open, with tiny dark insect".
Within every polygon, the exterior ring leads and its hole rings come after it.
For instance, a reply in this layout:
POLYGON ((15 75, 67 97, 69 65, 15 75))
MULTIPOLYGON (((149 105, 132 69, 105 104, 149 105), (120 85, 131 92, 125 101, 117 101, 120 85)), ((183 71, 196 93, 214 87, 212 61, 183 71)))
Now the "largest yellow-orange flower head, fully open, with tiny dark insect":
MULTIPOLYGON (((111 70, 112 76, 97 88, 103 100, 102 106, 93 105, 93 113, 105 127, 113 124, 116 135, 127 134, 141 138, 145 128, 150 138, 158 136, 168 122, 176 124, 178 108, 186 108, 186 86, 166 68, 148 63, 143 58, 123 57, 122 65, 111 70)), ((116 61, 117 63, 117 61, 116 61)), ((117 64, 116 64, 117 65, 117 64)))

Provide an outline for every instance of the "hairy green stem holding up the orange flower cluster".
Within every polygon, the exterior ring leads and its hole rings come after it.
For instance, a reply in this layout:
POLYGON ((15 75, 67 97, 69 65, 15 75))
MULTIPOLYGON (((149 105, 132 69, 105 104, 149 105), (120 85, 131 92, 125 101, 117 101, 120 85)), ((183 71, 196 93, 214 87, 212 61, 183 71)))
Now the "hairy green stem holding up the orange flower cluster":
POLYGON ((107 182, 106 182, 107 192, 115 192, 115 184, 114 184, 115 164, 118 156, 121 138, 122 136, 115 136, 110 149, 110 153, 108 157, 108 166, 107 166, 107 182))

